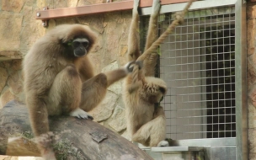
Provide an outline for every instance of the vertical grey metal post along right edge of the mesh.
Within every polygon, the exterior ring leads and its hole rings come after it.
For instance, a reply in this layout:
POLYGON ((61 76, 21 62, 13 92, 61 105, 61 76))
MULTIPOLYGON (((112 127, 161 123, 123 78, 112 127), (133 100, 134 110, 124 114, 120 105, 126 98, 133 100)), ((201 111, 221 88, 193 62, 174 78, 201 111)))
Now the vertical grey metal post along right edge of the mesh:
POLYGON ((236 130, 237 160, 248 159, 247 24, 246 3, 236 3, 236 130))

